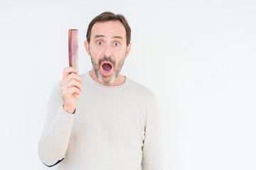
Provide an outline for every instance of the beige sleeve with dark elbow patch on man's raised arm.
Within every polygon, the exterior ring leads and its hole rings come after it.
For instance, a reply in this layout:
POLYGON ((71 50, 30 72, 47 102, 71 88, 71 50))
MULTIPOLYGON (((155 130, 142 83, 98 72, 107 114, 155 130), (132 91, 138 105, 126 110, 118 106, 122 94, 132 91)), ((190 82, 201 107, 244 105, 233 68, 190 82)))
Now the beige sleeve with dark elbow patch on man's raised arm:
POLYGON ((63 110, 60 84, 50 94, 46 121, 38 144, 38 154, 43 164, 54 166, 65 158, 75 114, 63 110))

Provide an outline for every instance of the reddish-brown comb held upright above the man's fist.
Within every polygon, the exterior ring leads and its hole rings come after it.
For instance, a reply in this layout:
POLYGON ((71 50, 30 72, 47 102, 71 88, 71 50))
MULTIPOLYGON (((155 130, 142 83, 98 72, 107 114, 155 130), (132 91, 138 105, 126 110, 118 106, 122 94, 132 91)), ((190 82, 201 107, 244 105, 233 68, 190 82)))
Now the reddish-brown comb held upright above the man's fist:
POLYGON ((68 59, 69 66, 78 68, 78 30, 68 30, 68 59))

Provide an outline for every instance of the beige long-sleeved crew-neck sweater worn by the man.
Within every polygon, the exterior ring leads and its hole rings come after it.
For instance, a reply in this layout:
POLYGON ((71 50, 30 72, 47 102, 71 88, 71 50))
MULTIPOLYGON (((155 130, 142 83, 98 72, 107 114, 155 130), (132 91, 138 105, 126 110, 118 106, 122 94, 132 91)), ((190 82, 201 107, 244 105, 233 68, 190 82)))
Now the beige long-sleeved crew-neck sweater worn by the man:
POLYGON ((48 103, 38 145, 41 161, 61 170, 161 170, 159 110, 146 87, 126 77, 97 84, 89 72, 75 114, 63 110, 60 84, 48 103))

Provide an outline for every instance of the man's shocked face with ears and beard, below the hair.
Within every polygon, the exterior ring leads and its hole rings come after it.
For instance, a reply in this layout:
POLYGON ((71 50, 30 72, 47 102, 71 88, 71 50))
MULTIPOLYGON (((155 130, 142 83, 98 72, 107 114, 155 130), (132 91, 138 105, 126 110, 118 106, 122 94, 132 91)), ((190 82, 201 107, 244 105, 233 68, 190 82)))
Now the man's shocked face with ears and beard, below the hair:
POLYGON ((102 84, 112 84, 117 79, 130 46, 127 46, 126 31, 120 21, 97 22, 92 26, 90 44, 85 41, 85 48, 102 84))

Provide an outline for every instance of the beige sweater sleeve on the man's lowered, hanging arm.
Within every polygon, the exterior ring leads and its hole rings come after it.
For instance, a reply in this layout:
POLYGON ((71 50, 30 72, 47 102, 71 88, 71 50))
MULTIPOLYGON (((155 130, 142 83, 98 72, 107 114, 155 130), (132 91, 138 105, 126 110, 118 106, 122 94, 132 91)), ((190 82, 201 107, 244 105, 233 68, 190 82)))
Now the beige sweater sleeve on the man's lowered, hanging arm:
POLYGON ((161 170, 161 130, 159 103, 151 96, 146 108, 146 123, 142 147, 142 170, 161 170))

